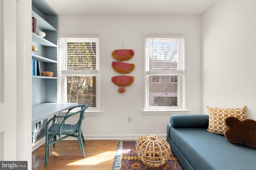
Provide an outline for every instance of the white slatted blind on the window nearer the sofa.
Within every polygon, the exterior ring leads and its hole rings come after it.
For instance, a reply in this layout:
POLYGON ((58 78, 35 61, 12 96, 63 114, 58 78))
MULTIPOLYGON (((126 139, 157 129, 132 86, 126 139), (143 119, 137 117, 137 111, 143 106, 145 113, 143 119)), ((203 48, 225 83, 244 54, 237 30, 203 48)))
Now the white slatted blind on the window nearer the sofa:
POLYGON ((184 38, 146 37, 147 71, 183 70, 184 38))

